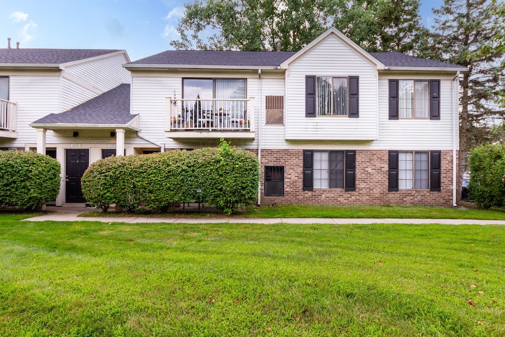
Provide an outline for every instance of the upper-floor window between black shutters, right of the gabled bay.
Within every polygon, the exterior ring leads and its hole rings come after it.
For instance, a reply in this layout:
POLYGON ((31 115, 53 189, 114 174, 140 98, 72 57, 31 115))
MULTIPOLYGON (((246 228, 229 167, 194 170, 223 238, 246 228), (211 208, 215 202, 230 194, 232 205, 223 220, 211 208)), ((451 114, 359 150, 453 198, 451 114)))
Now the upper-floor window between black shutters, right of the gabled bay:
POLYGON ((399 80, 399 118, 430 118, 430 81, 399 80))

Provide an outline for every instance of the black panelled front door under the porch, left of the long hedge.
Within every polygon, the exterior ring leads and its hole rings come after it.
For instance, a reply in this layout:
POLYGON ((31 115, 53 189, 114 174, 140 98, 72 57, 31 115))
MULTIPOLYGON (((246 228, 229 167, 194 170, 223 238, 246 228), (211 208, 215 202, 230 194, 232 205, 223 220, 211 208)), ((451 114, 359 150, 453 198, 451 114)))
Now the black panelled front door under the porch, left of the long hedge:
POLYGON ((66 184, 65 184, 65 202, 66 203, 85 203, 82 196, 81 178, 89 164, 89 150, 66 150, 66 184))

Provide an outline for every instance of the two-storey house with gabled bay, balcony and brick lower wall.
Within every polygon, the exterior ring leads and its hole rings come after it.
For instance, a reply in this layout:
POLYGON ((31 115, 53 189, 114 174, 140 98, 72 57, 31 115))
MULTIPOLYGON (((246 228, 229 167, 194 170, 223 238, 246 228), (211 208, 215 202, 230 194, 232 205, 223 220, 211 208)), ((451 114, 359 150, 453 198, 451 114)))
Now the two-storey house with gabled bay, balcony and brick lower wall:
POLYGON ((258 155, 261 204, 456 204, 465 67, 367 53, 334 28, 299 52, 166 51, 123 67, 129 92, 32 118, 39 136, 25 148, 59 149, 62 163, 79 149, 92 162, 225 138, 258 155))

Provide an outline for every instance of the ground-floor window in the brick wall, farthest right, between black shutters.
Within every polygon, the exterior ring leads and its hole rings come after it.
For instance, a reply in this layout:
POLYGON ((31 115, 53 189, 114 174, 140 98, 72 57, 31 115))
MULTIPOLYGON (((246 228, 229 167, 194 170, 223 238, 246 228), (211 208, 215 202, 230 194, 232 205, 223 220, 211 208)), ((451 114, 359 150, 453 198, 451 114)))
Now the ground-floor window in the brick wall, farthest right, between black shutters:
POLYGON ((425 189, 429 188, 429 152, 399 151, 398 152, 398 188, 425 189))

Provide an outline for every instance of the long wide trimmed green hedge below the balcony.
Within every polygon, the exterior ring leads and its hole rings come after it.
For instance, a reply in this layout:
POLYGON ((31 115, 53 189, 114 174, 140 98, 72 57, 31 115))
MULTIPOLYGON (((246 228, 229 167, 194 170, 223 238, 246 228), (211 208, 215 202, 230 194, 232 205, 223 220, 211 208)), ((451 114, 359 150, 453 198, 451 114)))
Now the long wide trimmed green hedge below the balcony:
POLYGON ((116 203, 129 212, 165 212, 199 200, 231 214, 256 200, 259 181, 258 158, 222 141, 219 148, 102 159, 88 167, 81 185, 86 200, 104 211, 116 203))

